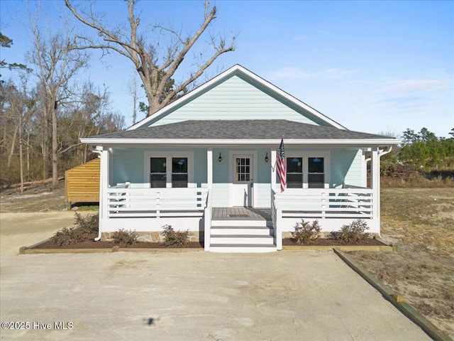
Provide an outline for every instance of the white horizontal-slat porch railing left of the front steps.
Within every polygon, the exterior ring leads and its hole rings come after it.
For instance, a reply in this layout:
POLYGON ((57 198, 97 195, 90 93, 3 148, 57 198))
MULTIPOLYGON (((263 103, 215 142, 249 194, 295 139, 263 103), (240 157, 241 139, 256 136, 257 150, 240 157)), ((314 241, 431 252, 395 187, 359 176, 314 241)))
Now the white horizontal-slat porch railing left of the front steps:
POLYGON ((107 217, 202 217, 207 195, 208 188, 116 186, 106 193, 107 217))

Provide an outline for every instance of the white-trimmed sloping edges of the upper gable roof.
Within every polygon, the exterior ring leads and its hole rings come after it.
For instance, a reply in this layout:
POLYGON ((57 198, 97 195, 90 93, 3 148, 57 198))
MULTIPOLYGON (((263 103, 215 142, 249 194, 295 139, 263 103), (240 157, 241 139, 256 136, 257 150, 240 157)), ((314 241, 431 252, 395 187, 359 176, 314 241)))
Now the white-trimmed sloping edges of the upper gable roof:
POLYGON ((242 77, 251 84, 255 85, 255 87, 258 87, 258 89, 269 92, 270 94, 272 94, 273 97, 276 97, 280 101, 286 103, 287 106, 298 108, 300 112, 304 112, 305 114, 307 114, 308 117, 314 119, 314 121, 323 122, 322 125, 333 126, 338 129, 346 129, 344 126, 334 121, 333 119, 326 117, 324 114, 321 114, 321 112, 317 111, 316 109, 309 107, 309 105, 305 104, 304 102, 301 102, 296 97, 293 97, 287 92, 284 92, 275 85, 272 85, 267 80, 264 80, 262 77, 255 75, 255 73, 250 72, 250 70, 247 70, 245 69, 245 67, 242 67, 241 65, 237 64, 231 67, 230 69, 222 72, 220 75, 217 75, 216 77, 212 78, 208 82, 204 83, 204 85, 197 87, 192 92, 189 92, 183 97, 180 97, 175 102, 172 102, 171 104, 168 104, 166 107, 158 110, 157 112, 155 112, 155 114, 152 114, 150 117, 147 117, 142 121, 139 121, 137 124, 134 124, 127 130, 143 128, 145 126, 149 126, 150 124, 159 121, 160 119, 166 117, 171 112, 174 112, 179 107, 182 107, 182 105, 191 102, 193 99, 196 99, 201 94, 208 92, 217 85, 221 84, 222 82, 225 82, 229 78, 236 75, 242 77))

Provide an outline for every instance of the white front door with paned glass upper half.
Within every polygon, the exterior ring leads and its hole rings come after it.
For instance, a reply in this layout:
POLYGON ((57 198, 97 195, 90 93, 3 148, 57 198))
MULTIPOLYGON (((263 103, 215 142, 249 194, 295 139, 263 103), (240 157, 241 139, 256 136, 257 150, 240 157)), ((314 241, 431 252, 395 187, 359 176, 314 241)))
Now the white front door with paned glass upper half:
POLYGON ((253 198, 253 155, 233 155, 233 206, 252 207, 253 198))

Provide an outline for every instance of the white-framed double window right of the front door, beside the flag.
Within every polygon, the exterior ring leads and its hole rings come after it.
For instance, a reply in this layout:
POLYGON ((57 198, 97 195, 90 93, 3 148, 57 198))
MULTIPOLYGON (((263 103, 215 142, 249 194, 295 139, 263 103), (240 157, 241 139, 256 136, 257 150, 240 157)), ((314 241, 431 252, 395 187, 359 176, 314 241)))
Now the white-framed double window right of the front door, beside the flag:
POLYGON ((286 158, 287 188, 325 188, 329 183, 327 151, 294 153, 286 158))

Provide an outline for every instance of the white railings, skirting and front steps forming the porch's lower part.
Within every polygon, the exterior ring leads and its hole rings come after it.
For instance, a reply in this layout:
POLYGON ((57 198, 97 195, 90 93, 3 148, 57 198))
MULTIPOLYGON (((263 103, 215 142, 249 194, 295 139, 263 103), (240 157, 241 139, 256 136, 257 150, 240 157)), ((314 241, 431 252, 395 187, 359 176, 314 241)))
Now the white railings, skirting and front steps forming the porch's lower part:
POLYGON ((131 227, 136 232, 160 232, 162 226, 170 224, 175 229, 199 232, 206 251, 220 245, 226 250, 226 245, 235 243, 265 246, 265 242, 268 251, 270 247, 280 250, 282 235, 292 232, 301 219, 319 220, 322 232, 336 231, 343 224, 362 219, 369 232, 380 233, 380 215, 374 205, 377 200, 370 188, 271 190, 271 207, 213 207, 211 191, 114 186, 104 193, 101 230, 131 227), (266 240, 264 236, 268 236, 266 240))

